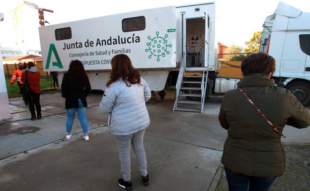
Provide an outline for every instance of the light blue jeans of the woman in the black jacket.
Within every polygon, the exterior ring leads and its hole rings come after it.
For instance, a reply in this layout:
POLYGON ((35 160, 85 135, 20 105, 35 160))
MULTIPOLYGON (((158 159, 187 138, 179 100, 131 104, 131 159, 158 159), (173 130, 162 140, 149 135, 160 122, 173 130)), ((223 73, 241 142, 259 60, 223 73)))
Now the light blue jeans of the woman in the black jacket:
POLYGON ((74 118, 76 117, 76 112, 78 112, 78 120, 83 129, 83 133, 88 132, 87 120, 86 120, 86 108, 80 99, 78 99, 78 108, 67 109, 67 133, 71 133, 74 118))

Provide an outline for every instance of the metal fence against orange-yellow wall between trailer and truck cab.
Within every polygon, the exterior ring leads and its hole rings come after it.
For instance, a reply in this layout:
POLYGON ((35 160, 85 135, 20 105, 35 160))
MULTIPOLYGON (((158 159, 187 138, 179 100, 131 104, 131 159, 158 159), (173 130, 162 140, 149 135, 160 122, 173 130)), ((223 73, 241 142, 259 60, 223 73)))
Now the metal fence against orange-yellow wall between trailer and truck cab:
POLYGON ((218 54, 221 68, 218 70, 220 77, 242 78, 241 62, 250 53, 218 54))

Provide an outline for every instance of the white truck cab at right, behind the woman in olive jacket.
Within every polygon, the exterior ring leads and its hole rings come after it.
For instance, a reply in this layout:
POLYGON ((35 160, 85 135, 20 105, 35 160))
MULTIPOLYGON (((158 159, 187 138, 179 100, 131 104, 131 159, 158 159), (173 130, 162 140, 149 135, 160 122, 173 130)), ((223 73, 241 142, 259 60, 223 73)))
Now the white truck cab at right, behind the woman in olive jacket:
POLYGON ((260 52, 276 60, 273 75, 304 105, 310 105, 310 13, 279 2, 273 15, 266 18, 260 52))

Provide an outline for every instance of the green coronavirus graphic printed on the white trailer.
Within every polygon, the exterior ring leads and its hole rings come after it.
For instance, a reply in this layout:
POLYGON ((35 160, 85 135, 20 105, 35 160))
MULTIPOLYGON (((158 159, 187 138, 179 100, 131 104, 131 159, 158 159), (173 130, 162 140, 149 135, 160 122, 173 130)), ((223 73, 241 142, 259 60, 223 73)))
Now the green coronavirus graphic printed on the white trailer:
POLYGON ((150 42, 147 43, 147 46, 149 47, 146 49, 146 52, 150 52, 149 59, 152 59, 152 56, 154 56, 157 62, 160 61, 160 57, 165 57, 166 54, 170 54, 170 51, 167 50, 168 47, 172 47, 171 44, 168 44, 168 41, 166 38, 168 37, 167 34, 164 35, 164 37, 159 36, 159 32, 156 32, 156 36, 154 38, 151 38, 148 36, 148 39, 150 42))

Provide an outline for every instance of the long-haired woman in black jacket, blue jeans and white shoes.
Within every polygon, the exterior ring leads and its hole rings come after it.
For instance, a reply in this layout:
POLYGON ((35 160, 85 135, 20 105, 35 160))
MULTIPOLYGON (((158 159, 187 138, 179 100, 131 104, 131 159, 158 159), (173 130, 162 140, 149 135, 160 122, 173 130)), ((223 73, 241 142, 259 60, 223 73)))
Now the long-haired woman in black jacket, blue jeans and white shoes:
POLYGON ((90 83, 83 64, 74 60, 71 61, 68 72, 65 73, 62 82, 62 95, 66 98, 67 110, 67 139, 70 139, 73 121, 78 112, 78 120, 83 129, 83 138, 89 140, 86 120, 86 97, 91 90, 90 83))

